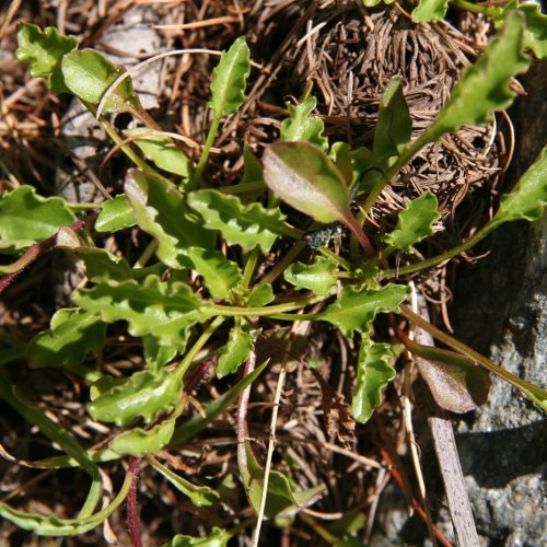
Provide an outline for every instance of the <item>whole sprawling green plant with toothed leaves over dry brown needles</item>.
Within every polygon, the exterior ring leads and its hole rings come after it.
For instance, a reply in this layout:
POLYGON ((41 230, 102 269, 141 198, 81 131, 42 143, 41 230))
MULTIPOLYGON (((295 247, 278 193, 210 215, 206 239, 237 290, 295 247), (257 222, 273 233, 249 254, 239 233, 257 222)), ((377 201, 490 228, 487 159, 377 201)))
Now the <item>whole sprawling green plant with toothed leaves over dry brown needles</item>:
MULTIPOLYGON (((414 12, 417 20, 432 16, 429 11, 423 14, 429 4, 420 2, 414 12)), ((268 361, 256 362, 255 351, 266 322, 289 326, 327 322, 360 345, 350 403, 352 419, 360 423, 371 418, 396 373, 396 344, 377 340, 374 322, 379 314, 399 314, 452 348, 420 346, 398 330, 406 349, 429 363, 419 372, 441 407, 455 412, 476 408, 486 400, 488 373, 492 373, 547 408, 544 388, 503 371, 405 305, 410 289, 403 278, 457 256, 505 222, 539 219, 547 201, 546 151, 501 198, 491 221, 439 256, 410 259, 415 246, 433 234, 440 218, 431 193, 410 201, 387 233, 374 233, 368 222, 383 188, 424 146, 463 125, 485 124, 492 112, 511 104, 514 93, 509 82, 529 62, 523 46, 528 44, 536 54, 543 50, 533 45, 523 21, 534 20, 537 13, 515 5, 496 9, 496 13, 503 20, 500 35, 465 71, 437 119, 417 140, 410 141, 411 120, 399 79, 392 80, 385 91, 372 150, 329 144, 322 120, 312 115, 315 100, 306 96, 289 107, 280 141, 266 146, 261 162, 245 147, 241 182, 217 188, 208 184, 205 170, 222 119, 236 113, 245 100, 251 63, 244 37, 222 54, 213 72, 212 123, 201 156, 193 165, 173 138, 150 120, 125 69, 94 50, 78 49, 74 38, 55 28, 20 25, 18 58, 28 61, 31 73, 45 78, 51 91, 79 97, 135 167, 124 194, 95 205, 100 210, 81 219, 70 203, 40 197, 30 186, 13 187, 0 197, 0 247, 18 257, 0 266, 0 290, 47 249, 75 255, 86 275, 85 284, 72 294, 74 307, 58 310, 49 329, 31 340, 3 339, 0 396, 65 452, 36 463, 37 467, 81 467, 92 479, 74 519, 27 513, 2 502, 3 517, 40 535, 81 534, 103 523, 126 499, 136 507, 131 485, 141 461, 196 505, 221 502, 232 487, 231 477, 218 489, 198 486, 166 468, 154 454, 191 440, 238 397, 237 462, 249 504, 259 515, 277 517, 313 503, 321 489, 300 491, 289 477, 263 468, 246 433, 248 389, 268 366, 268 361), (143 127, 118 135, 108 115, 119 113, 129 113, 143 127), (326 244, 340 225, 348 229, 351 242, 348 249, 334 253, 326 244), (133 266, 97 243, 103 234, 132 226, 150 236, 149 247, 133 266), (310 248, 306 240, 313 253, 304 253, 310 248), (264 256, 281 247, 286 251, 277 255, 278 261, 263 271, 264 256), (408 257, 409 264, 395 269, 391 263, 395 254, 408 257), (142 369, 127 377, 93 370, 86 360, 90 353, 104 350, 109 325, 118 322, 142 346, 142 369), (218 337, 226 325, 228 335, 218 337), (7 364, 24 359, 31 368, 62 368, 91 382, 89 415, 119 428, 105 447, 85 450, 16 389, 7 364), (244 364, 245 374, 220 398, 205 405, 202 416, 183 418, 193 389, 208 370, 213 368, 221 379, 244 364), (109 504, 97 510, 103 496, 100 464, 118 458, 129 458, 126 480, 109 504)), ((289 352, 294 344, 291 333, 287 329, 287 336, 279 339, 289 352)), ((253 522, 232 529, 213 528, 205 540, 225 545, 253 522)), ((136 535, 131 519, 130 526, 136 535)), ((190 540, 177 536, 173 545, 190 540)))

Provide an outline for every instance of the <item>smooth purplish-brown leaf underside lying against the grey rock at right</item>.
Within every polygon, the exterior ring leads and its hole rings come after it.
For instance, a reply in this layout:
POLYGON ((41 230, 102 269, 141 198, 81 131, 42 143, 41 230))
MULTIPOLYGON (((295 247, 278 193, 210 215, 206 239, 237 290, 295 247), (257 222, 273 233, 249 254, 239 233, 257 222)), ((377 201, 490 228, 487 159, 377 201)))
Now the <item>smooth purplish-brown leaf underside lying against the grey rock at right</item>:
POLYGON ((475 410, 488 398, 488 372, 453 351, 411 344, 416 365, 437 404, 451 412, 475 410))

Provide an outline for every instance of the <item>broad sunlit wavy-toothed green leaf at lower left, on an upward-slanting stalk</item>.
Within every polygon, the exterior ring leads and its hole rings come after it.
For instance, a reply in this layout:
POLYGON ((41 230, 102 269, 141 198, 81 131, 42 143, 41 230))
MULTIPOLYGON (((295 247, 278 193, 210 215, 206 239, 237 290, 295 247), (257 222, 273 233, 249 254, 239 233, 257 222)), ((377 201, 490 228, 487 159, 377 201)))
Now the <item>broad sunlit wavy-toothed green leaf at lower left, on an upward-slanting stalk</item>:
POLYGON ((110 380, 103 376, 95 382, 88 411, 94 420, 117 426, 127 426, 138 417, 150 423, 159 412, 170 412, 181 397, 183 384, 179 374, 165 369, 159 374, 136 372, 121 382, 120 379, 110 380))

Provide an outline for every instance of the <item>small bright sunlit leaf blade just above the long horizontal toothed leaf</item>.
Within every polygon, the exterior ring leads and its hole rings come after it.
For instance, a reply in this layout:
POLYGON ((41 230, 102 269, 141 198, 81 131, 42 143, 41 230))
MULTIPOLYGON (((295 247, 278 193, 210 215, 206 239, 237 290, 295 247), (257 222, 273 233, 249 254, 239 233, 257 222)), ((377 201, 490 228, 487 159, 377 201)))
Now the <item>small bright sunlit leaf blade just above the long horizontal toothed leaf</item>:
POLYGON ((194 269, 203 278, 211 296, 226 299, 230 291, 242 280, 240 267, 220 251, 188 247, 187 256, 194 269))

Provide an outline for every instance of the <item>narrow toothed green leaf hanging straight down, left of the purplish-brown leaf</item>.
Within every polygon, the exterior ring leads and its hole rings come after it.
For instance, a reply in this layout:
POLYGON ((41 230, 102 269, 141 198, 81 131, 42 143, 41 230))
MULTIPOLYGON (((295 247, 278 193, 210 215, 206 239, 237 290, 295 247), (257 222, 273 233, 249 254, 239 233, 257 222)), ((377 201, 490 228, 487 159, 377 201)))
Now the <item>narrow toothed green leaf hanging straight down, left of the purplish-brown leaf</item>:
POLYGON ((382 403, 382 391, 395 377, 395 369, 388 364, 392 357, 388 344, 374 342, 368 333, 363 333, 351 400, 351 416, 356 421, 366 423, 382 403))

